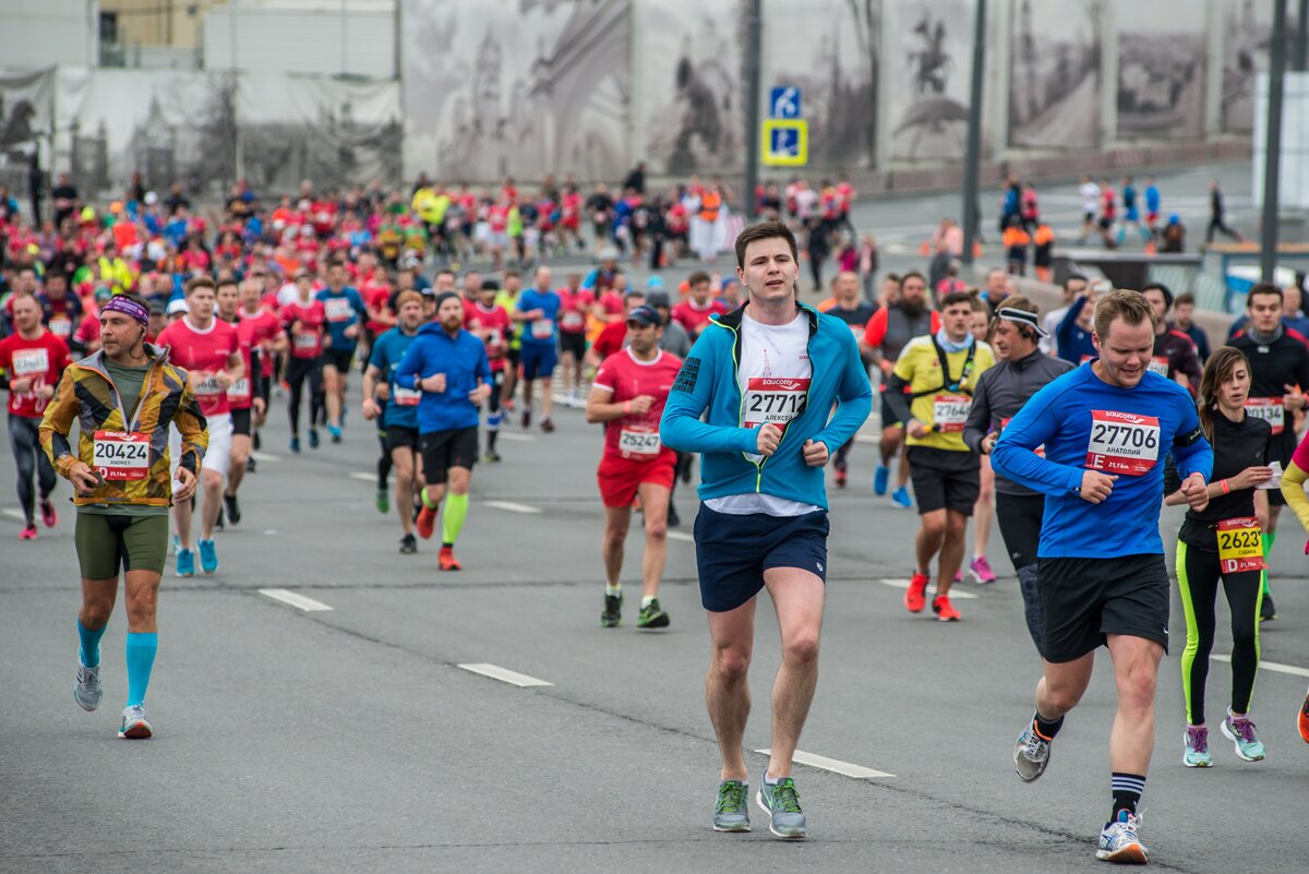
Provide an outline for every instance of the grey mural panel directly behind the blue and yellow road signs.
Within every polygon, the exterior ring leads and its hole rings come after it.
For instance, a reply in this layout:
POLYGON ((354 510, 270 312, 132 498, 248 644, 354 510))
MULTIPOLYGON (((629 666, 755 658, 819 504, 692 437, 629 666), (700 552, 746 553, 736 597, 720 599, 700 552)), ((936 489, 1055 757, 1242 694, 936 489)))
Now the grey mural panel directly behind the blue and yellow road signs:
POLYGON ((800 86, 810 164, 873 166, 880 33, 881 0, 764 0, 763 98, 800 86))

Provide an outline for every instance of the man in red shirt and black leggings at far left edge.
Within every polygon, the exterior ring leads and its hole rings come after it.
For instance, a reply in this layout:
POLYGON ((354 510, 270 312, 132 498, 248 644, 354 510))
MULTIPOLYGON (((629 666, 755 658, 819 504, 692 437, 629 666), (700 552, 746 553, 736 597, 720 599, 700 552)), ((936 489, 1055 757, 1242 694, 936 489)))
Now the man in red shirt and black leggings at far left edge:
POLYGON ((31 296, 13 301, 16 332, 0 340, 0 374, 9 387, 9 445, 18 467, 18 505, 25 523, 20 540, 37 539, 37 492, 41 489, 41 521, 47 529, 59 522, 50 493, 55 468, 41 447, 41 416, 55 394, 59 377, 72 364, 68 344, 41 324, 41 304, 31 296))

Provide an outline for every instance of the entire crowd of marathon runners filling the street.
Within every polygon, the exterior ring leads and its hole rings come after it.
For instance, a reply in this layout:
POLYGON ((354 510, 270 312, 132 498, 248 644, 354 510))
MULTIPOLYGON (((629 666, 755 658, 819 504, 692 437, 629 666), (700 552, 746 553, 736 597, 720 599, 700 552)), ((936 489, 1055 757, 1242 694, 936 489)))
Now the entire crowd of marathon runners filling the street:
MULTIPOLYGON (((644 178, 622 188, 643 198, 644 178)), ((715 222, 725 213, 720 183, 687 192, 702 218, 706 208, 715 222)), ((842 192, 825 186, 802 198, 817 211, 801 222, 810 250, 816 234, 853 242, 853 194, 842 192)), ((785 220, 793 192, 763 194, 785 220)), ((376 429, 376 505, 395 513, 399 551, 418 552, 440 522, 437 568, 457 572, 475 467, 501 461, 497 437, 508 427, 554 432, 558 396, 603 428, 596 485, 605 627, 623 620, 634 513, 644 527, 635 624, 670 624, 658 599, 666 533, 681 523, 675 487, 699 461, 706 699, 723 755, 713 828, 750 828, 746 676, 755 604, 767 589, 783 662, 755 798, 775 835, 802 839, 791 758, 817 680, 826 470, 833 488, 852 488, 855 436, 876 400, 872 492, 888 501, 885 512, 916 509, 920 519, 906 611, 931 606, 942 623, 962 620, 950 590, 965 573, 995 582, 986 552, 994 523, 1011 555, 1043 665, 1013 752, 1022 780, 1046 771, 1096 650, 1111 653, 1119 700, 1100 858, 1147 858, 1138 805, 1169 644, 1164 504, 1187 506, 1175 561, 1187 627, 1183 761, 1212 763, 1204 687, 1220 581, 1233 636, 1220 731, 1240 759, 1267 755, 1250 712, 1259 623, 1276 618, 1268 550, 1282 506, 1309 530, 1309 441, 1297 440, 1309 326, 1297 289, 1255 285, 1245 317, 1213 348, 1191 321, 1194 300, 1160 284, 1127 290, 1073 276, 1064 306, 1042 313, 1014 293, 1005 268, 975 288, 949 271, 882 275, 869 288, 856 264, 843 266, 830 297, 810 306, 798 294, 804 246, 788 221, 733 234, 736 270, 725 279, 696 271, 677 287, 654 277, 636 288, 619 266, 624 253, 668 264, 677 250, 653 247, 682 245, 652 233, 648 216, 639 229, 626 221, 635 213, 602 221, 594 199, 569 200, 577 195, 567 181, 554 196, 534 192, 529 212, 508 181, 490 196, 483 232, 480 207, 470 213, 461 196, 425 181, 411 203, 367 190, 318 199, 306 187, 298 201, 266 212, 238 187, 216 228, 179 191, 117 203, 105 215, 56 199, 58 226, 72 232, 54 239, 9 224, 0 369, 20 538, 38 536, 38 516, 56 526, 55 497, 71 492, 84 593, 75 699, 86 710, 101 701, 99 638, 122 572, 120 737, 153 733, 144 700, 169 553, 179 577, 219 572, 215 531, 241 523, 240 488, 257 470, 253 450, 268 415, 287 416, 291 454, 340 442, 352 417, 368 421, 355 427, 376 429), (559 224, 542 229, 547 200, 559 224), (504 216, 493 213, 501 207, 504 216), (542 233, 516 233, 513 221, 542 233), (594 225, 597 264, 556 276, 542 255, 573 245, 567 230, 583 221, 594 225), (439 263, 424 268, 433 255, 439 263), (456 266, 479 255, 496 270, 456 266), (360 396, 351 391, 356 369, 360 396)), ((1020 225, 1024 203, 1020 191, 1020 225)), ((696 233, 723 230, 689 230, 696 233)), ((687 245, 712 262, 720 243, 687 245)), ((1309 696, 1299 729, 1309 742, 1309 696)))

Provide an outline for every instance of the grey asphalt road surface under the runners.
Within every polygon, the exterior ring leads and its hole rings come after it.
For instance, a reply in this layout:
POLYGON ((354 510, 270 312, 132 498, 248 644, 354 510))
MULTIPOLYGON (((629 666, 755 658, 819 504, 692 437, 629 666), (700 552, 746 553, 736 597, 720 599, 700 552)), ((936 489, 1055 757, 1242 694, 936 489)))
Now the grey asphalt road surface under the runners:
MULTIPOLYGON (((357 395, 356 395, 357 396, 357 395)), ((168 576, 149 690, 156 737, 115 737, 126 693, 120 614, 103 641, 105 704, 72 701, 79 604, 72 509, 18 543, 13 474, 0 467, 0 870, 4 871, 691 871, 779 864, 826 871, 1092 870, 1107 815, 1113 684, 1097 675, 1045 778, 1013 775, 1031 710, 1035 654, 1012 570, 966 584, 957 624, 910 616, 901 589, 915 530, 867 485, 833 498, 822 680, 801 750, 882 772, 797 769, 812 839, 781 847, 758 810, 750 835, 709 830, 717 756, 703 709, 707 632, 689 542, 669 544, 672 628, 631 627, 639 531, 630 538, 628 624, 598 625, 600 433, 563 410, 555 434, 511 430, 504 463, 479 466, 458 555, 397 551, 373 508, 372 428, 291 457, 280 406, 242 523, 219 535, 213 577, 168 576), (330 610, 260 594, 287 589, 330 610), (487 663, 551 686, 517 687, 487 663)), ((1177 516, 1165 527, 1175 530, 1177 516)), ((1278 543, 1282 619, 1268 662, 1309 667, 1300 535, 1278 543)), ((999 535, 992 555, 1003 556, 999 535)), ((1225 607, 1221 608, 1225 615, 1225 607)), ((1295 730, 1304 676, 1264 670, 1254 717, 1270 758, 1179 764, 1177 659, 1160 683, 1157 755, 1143 836, 1174 871, 1300 871, 1309 748, 1295 730)), ((768 746, 778 637, 761 608, 750 750, 768 746)), ((1228 652, 1220 631, 1216 652, 1228 652)), ((1107 669, 1107 665, 1102 665, 1107 669)), ((1215 662, 1212 709, 1229 687, 1215 662)), ((753 755, 753 781, 764 764, 753 755)), ((838 769, 840 765, 835 765, 838 769)))

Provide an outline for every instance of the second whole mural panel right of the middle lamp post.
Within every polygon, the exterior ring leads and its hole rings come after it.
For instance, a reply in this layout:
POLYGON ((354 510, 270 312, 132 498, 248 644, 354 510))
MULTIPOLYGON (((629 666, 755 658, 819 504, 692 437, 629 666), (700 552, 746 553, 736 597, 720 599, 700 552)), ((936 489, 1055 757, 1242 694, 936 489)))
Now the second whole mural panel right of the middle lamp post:
POLYGON ((1117 0, 1118 139, 1204 132, 1206 0, 1117 0))

